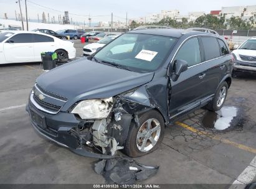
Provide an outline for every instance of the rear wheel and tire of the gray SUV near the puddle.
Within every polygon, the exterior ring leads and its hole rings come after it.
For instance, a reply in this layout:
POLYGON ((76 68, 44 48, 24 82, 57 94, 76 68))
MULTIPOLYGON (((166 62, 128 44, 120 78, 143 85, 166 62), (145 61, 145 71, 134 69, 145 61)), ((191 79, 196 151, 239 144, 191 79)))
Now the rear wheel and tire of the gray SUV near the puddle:
POLYGON ((221 83, 214 95, 214 98, 210 103, 206 105, 206 108, 209 109, 209 111, 220 110, 224 105, 225 99, 227 98, 228 89, 229 89, 229 86, 227 85, 227 82, 224 81, 223 83, 221 83), (222 94, 222 97, 220 97, 220 94, 222 94))

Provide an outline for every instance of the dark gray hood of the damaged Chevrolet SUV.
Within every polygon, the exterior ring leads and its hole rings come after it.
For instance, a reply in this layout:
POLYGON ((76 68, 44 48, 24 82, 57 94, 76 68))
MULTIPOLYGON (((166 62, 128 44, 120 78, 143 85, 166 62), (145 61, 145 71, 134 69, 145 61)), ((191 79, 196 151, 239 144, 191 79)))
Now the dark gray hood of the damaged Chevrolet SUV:
POLYGON ((154 73, 137 73, 82 58, 40 75, 36 83, 45 91, 72 101, 109 98, 148 83, 154 73))

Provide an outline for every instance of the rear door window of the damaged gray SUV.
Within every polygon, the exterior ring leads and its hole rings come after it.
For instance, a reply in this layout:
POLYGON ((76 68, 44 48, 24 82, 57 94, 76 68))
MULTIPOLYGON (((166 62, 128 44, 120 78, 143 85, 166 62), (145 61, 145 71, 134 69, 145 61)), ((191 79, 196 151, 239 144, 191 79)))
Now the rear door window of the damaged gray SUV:
POLYGON ((201 37, 201 39, 206 60, 211 60, 220 56, 219 44, 215 37, 201 37))

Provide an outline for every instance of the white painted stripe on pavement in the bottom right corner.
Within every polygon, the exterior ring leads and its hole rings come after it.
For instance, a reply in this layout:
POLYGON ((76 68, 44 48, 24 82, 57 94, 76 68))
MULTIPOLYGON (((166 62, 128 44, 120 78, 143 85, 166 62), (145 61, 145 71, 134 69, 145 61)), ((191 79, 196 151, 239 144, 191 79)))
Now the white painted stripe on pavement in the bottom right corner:
POLYGON ((243 185, 247 185, 254 180, 254 177, 256 177, 256 156, 252 162, 250 162, 250 165, 247 166, 245 170, 232 183, 229 189, 239 188, 243 185))

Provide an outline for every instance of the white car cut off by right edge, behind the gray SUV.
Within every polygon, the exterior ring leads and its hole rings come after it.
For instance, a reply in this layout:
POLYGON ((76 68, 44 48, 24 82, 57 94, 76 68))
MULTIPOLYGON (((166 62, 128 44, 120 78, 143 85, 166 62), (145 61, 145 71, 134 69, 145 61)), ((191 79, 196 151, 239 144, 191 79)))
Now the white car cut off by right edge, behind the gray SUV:
POLYGON ((234 45, 232 55, 235 58, 235 72, 256 73, 256 37, 246 40, 242 45, 234 45))

